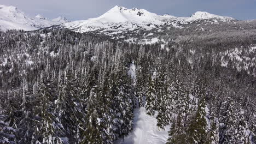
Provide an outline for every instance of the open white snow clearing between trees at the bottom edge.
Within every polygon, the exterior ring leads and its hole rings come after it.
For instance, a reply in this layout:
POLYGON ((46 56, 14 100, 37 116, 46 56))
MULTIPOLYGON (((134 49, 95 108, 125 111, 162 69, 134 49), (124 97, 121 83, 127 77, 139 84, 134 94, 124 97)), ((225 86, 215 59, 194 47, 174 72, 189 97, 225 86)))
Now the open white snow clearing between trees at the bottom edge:
POLYGON ((133 130, 130 135, 115 141, 115 144, 164 144, 168 139, 168 130, 159 130, 155 116, 147 115, 146 109, 140 107, 134 111, 133 130))

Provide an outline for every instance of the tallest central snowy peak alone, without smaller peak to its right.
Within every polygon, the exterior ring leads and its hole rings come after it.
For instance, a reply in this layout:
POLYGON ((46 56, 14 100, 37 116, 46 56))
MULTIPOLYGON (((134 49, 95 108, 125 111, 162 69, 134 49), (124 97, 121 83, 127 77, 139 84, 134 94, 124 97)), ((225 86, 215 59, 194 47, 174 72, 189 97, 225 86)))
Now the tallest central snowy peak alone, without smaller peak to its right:
POLYGON ((74 29, 78 32, 95 31, 98 29, 107 29, 107 31, 115 30, 134 30, 137 28, 152 29, 164 22, 164 17, 160 17, 154 13, 150 13, 144 9, 126 9, 124 7, 115 6, 100 17, 64 23, 62 26, 74 29))

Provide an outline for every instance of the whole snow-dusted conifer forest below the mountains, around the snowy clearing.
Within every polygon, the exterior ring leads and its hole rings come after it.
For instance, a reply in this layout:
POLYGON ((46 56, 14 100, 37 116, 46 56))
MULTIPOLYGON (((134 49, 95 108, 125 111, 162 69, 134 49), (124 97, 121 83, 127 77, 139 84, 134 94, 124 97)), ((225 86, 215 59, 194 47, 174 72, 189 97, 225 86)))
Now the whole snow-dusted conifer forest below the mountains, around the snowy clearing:
POLYGON ((0 143, 112 144, 137 107, 171 124, 168 144, 255 143, 256 52, 240 70, 225 52, 246 55, 254 38, 210 36, 162 49, 68 29, 0 32, 0 143))

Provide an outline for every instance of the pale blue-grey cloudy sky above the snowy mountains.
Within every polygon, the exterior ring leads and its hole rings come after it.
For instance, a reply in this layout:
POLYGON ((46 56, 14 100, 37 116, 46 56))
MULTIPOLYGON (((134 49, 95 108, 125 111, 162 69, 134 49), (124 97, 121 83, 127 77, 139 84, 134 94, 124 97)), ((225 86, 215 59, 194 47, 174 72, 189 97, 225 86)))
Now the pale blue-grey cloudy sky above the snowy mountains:
POLYGON ((196 11, 207 11, 238 20, 256 19, 256 0, 1 0, 0 3, 14 5, 31 16, 65 16, 69 20, 97 17, 115 5, 174 16, 190 16, 196 11))

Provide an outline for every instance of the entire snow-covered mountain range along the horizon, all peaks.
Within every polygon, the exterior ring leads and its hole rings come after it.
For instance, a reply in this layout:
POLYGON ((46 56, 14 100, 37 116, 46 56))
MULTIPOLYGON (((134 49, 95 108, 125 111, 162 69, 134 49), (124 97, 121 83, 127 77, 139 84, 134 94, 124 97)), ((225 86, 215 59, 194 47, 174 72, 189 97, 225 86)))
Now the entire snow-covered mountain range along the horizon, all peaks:
POLYGON ((176 17, 167 14, 157 15, 145 9, 127 9, 117 5, 99 17, 69 22, 65 17, 58 17, 53 20, 49 20, 42 15, 29 17, 16 7, 0 5, 0 29, 2 31, 7 29, 32 31, 57 25, 60 28, 69 28, 82 33, 90 31, 122 32, 136 29, 150 30, 164 25, 182 28, 183 25, 198 21, 218 23, 237 20, 232 17, 214 15, 203 11, 197 11, 190 17, 176 17))

